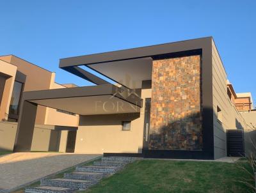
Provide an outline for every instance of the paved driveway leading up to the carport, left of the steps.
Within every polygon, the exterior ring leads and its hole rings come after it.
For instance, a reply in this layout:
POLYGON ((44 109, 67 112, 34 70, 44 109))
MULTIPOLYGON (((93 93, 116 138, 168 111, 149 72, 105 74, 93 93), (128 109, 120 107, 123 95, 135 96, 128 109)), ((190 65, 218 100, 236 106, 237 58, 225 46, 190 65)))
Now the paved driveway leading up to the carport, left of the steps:
POLYGON ((15 189, 100 155, 77 153, 12 153, 0 157, 0 192, 15 189))

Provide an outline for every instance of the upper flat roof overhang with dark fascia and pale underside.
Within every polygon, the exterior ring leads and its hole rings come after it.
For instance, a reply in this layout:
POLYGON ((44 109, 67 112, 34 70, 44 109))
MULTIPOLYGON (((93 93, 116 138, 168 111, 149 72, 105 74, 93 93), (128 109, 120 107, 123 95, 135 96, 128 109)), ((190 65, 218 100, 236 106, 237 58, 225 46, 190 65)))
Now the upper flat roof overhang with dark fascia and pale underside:
POLYGON ((107 81, 87 72, 83 66, 91 68, 126 88, 141 88, 141 81, 151 79, 152 60, 201 54, 212 37, 180 42, 164 43, 134 49, 116 50, 99 54, 60 59, 60 68, 95 84, 107 81), (125 77, 126 76, 126 77, 125 77), (128 77, 128 81, 127 81, 128 77), (133 81, 133 82, 132 82, 133 81))

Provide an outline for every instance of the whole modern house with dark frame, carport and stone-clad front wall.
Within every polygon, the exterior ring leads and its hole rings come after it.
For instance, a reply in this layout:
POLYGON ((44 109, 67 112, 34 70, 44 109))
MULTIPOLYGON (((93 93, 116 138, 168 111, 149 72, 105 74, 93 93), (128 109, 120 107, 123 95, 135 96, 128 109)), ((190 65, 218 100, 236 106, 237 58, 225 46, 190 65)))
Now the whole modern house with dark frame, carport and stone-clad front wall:
POLYGON ((25 91, 14 151, 31 150, 41 106, 79 114, 81 153, 216 159, 227 156, 226 131, 247 128, 212 37, 60 59, 60 68, 95 86, 25 91))

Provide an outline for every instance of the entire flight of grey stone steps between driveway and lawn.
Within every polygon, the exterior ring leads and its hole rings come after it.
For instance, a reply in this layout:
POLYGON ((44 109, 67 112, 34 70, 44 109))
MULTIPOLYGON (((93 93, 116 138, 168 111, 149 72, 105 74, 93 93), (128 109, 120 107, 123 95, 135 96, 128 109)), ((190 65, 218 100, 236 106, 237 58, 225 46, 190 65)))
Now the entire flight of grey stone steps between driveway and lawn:
POLYGON ((99 183, 105 176, 116 171, 138 158, 132 157, 103 157, 93 162, 93 166, 77 166, 73 173, 65 173, 64 178, 42 179, 38 187, 29 187, 26 193, 70 193, 76 190, 86 190, 99 183))

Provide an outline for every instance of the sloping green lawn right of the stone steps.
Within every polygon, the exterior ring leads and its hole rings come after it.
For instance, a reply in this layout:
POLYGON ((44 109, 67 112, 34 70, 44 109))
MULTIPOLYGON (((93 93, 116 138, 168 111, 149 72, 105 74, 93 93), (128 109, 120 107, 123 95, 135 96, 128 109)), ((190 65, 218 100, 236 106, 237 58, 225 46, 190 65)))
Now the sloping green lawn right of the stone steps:
MULTIPOLYGON (((239 164, 248 167, 246 162, 239 164)), ((139 160, 85 192, 252 192, 239 182, 243 178, 250 174, 237 164, 139 160)))

